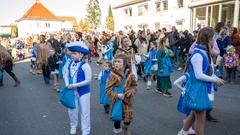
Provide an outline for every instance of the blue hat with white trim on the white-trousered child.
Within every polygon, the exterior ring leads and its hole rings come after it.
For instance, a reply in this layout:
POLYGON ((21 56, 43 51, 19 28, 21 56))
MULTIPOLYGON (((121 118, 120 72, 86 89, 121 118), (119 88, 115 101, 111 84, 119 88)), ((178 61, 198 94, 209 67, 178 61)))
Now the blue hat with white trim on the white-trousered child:
POLYGON ((71 52, 81 52, 84 55, 90 54, 88 47, 82 41, 68 43, 66 47, 71 52))

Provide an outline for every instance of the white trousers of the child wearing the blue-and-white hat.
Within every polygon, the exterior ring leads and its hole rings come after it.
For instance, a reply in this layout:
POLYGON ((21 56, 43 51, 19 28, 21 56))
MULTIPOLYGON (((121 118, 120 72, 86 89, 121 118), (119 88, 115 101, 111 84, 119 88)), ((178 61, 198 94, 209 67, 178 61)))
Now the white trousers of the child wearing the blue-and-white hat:
MULTIPOLYGON (((78 94, 77 94, 78 95, 78 94)), ((90 123, 90 93, 75 97, 75 109, 68 109, 71 128, 77 128, 78 116, 80 111, 82 135, 89 135, 90 123)))

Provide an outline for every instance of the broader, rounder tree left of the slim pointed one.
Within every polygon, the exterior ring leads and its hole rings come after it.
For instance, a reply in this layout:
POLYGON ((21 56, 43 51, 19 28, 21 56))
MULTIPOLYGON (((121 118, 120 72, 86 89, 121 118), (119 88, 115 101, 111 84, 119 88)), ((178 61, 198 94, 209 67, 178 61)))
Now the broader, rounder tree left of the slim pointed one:
POLYGON ((90 0, 87 5, 87 22, 91 29, 96 30, 101 23, 101 9, 98 0, 90 0))

